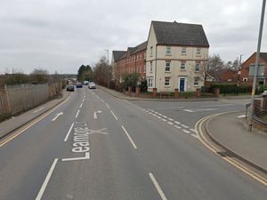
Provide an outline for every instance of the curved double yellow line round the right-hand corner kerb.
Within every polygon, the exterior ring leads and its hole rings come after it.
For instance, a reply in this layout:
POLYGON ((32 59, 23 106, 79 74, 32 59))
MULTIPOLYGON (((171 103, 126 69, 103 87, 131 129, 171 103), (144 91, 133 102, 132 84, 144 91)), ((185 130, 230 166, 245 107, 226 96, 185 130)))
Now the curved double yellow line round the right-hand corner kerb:
MULTIPOLYGON (((206 139, 204 133, 201 130, 201 127, 207 121, 211 120, 214 116, 220 116, 220 115, 223 115, 223 114, 225 114, 225 113, 206 116, 206 117, 200 119, 198 121, 198 123, 195 125, 195 130, 197 130, 198 139, 205 145, 206 148, 208 148, 209 150, 214 152, 214 154, 216 154, 217 156, 218 156, 218 152, 222 151, 222 149, 216 148, 211 142, 209 142, 206 139)), ((263 178, 260 174, 251 171, 246 166, 244 166, 243 164, 240 164, 239 162, 237 162, 236 160, 232 159, 231 157, 225 156, 225 157, 222 157, 222 158, 223 158, 223 160, 227 161, 228 163, 230 163, 233 166, 235 166, 236 168, 238 168, 240 171, 245 172, 248 176, 252 177, 253 179, 255 179, 257 181, 259 181, 264 186, 267 186, 267 180, 265 178, 263 178)))

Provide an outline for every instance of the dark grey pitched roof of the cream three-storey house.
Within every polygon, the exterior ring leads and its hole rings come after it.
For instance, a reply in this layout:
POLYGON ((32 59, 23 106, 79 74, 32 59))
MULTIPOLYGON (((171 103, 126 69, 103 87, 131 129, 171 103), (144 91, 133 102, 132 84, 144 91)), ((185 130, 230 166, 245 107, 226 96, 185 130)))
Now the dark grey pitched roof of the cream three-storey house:
POLYGON ((202 25, 152 20, 158 44, 209 47, 202 25))

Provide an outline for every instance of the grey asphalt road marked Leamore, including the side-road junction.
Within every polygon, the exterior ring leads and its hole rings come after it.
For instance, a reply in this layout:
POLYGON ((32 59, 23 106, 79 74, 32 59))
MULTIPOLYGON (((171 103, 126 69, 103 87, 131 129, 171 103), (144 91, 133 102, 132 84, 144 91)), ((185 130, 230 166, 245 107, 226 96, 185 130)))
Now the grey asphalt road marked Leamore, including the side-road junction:
POLYGON ((0 199, 266 199, 266 186, 193 130, 201 117, 244 103, 129 102, 77 89, 0 148, 0 199))

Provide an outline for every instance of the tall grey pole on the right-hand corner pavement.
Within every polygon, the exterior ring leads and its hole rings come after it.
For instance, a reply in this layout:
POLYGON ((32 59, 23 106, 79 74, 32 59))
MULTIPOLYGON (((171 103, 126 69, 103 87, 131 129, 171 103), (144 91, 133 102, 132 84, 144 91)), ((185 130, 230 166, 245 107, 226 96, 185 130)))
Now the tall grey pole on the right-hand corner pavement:
POLYGON ((262 15, 261 15, 261 22, 260 22, 260 31, 259 31, 259 37, 258 37, 255 68, 254 68, 253 86, 252 86, 252 93, 251 93, 251 113, 249 115, 250 131, 252 131, 252 122, 253 122, 253 116, 255 113, 255 108, 254 108, 255 87, 256 87, 256 82, 257 82, 257 72, 258 72, 258 65, 259 65, 259 60, 260 60, 260 52, 261 52, 261 44, 262 44, 262 36, 263 36, 263 21, 264 21, 265 4, 266 4, 266 0, 263 0, 262 15))

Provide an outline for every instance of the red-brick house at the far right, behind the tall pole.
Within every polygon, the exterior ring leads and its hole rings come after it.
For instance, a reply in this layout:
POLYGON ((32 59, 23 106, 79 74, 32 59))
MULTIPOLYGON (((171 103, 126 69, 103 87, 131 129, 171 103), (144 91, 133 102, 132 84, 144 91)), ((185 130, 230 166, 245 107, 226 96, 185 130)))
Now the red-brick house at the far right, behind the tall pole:
MULTIPOLYGON (((249 77, 249 67, 251 64, 255 64, 256 60, 256 52, 254 52, 245 62, 241 65, 241 70, 239 74, 239 82, 249 82, 253 83, 253 77, 249 77)), ((264 75, 263 78, 258 78, 257 84, 267 84, 267 52, 260 53, 259 64, 264 65, 264 75)))

